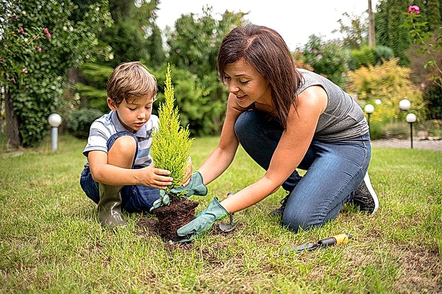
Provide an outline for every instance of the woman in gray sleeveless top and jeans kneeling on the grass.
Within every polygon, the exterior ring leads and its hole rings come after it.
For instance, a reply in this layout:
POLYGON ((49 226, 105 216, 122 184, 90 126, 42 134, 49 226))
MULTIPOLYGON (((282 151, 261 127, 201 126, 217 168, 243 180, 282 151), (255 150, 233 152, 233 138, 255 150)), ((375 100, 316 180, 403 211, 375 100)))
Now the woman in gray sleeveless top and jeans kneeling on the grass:
POLYGON ((297 232, 336 218, 346 202, 374 213, 379 206, 367 169, 368 125, 359 105, 318 74, 296 69, 273 29, 238 26, 222 40, 218 72, 230 92, 218 147, 184 190, 204 186, 224 172, 240 143, 267 172, 178 229, 188 240, 245 209, 280 186, 288 195, 273 214, 297 232), (301 177, 296 168, 307 170, 301 177))

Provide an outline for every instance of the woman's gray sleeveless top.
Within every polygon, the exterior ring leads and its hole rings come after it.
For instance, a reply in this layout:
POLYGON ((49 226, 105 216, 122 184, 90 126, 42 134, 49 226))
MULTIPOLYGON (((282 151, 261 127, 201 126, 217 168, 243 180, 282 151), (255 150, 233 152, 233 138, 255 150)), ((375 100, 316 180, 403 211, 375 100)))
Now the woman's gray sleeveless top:
POLYGON ((328 96, 327 107, 319 116, 314 139, 320 141, 339 141, 359 137, 368 132, 368 124, 358 103, 339 86, 327 78, 304 69, 297 69, 304 81, 297 94, 310 86, 319 85, 328 96))

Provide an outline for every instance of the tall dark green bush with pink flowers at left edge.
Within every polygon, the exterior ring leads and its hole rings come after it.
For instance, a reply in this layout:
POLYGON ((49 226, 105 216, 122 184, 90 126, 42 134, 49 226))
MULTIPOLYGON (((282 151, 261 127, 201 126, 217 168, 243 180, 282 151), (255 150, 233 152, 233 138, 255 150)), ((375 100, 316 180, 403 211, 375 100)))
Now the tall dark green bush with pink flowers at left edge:
POLYGON ((80 11, 72 1, 0 0, 0 84, 13 145, 42 139, 62 103, 66 71, 97 48, 95 33, 111 24, 108 2, 91 3, 80 11))

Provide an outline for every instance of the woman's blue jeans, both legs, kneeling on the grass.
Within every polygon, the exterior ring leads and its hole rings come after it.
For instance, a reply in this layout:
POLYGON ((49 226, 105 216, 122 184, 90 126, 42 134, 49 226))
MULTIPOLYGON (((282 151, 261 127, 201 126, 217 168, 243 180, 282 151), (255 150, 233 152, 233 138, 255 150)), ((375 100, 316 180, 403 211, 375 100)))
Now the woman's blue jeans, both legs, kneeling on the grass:
MULTIPOLYGON (((235 123, 235 134, 246 152, 263 169, 281 138, 283 127, 268 114, 249 110, 235 123)), ((290 154, 287 154, 290 156, 290 154)), ((313 139, 298 168, 282 184, 288 191, 282 222, 297 232, 335 219, 362 182, 371 157, 370 135, 324 142, 313 139)))

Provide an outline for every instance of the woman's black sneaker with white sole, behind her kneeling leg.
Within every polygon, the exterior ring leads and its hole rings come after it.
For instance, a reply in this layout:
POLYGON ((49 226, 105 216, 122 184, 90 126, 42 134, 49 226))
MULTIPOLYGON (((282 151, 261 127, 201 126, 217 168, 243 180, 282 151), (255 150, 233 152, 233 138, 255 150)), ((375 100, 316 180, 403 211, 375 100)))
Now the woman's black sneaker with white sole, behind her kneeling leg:
POLYGON ((379 208, 379 199, 371 186, 370 177, 368 172, 365 173, 364 179, 359 184, 355 191, 355 196, 352 199, 353 203, 359 206, 361 212, 367 212, 368 214, 374 214, 379 208))

